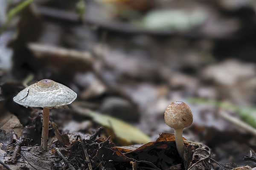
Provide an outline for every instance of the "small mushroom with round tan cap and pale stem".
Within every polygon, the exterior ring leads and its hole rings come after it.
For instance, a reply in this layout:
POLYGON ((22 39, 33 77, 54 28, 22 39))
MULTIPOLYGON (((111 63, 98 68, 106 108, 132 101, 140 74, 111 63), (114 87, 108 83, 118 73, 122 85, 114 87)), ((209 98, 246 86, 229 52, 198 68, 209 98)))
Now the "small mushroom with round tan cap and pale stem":
POLYGON ((184 102, 172 102, 164 112, 164 120, 169 127, 174 128, 176 147, 180 157, 183 158, 184 144, 182 130, 192 124, 192 111, 184 102))

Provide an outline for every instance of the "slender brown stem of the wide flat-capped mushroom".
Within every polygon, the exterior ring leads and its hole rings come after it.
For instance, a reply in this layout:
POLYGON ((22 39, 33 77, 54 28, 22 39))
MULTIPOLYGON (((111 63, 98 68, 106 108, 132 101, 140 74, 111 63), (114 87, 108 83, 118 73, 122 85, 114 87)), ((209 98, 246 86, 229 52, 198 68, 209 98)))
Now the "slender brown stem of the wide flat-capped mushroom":
POLYGON ((49 114, 50 109, 43 109, 43 130, 42 130, 42 138, 41 138, 41 147, 44 150, 47 150, 48 147, 48 133, 49 133, 49 114))

